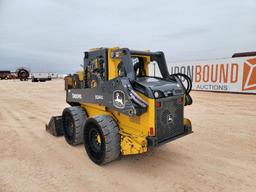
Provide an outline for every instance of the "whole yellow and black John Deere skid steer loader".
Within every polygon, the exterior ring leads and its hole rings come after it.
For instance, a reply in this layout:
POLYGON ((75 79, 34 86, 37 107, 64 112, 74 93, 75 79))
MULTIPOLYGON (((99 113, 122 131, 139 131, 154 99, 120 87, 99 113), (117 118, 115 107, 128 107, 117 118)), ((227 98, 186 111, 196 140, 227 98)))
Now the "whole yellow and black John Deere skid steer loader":
POLYGON ((83 72, 67 78, 70 107, 46 129, 70 145, 83 143, 96 164, 192 133, 184 118, 184 106, 192 104, 191 80, 170 75, 163 52, 93 49, 84 53, 83 72))

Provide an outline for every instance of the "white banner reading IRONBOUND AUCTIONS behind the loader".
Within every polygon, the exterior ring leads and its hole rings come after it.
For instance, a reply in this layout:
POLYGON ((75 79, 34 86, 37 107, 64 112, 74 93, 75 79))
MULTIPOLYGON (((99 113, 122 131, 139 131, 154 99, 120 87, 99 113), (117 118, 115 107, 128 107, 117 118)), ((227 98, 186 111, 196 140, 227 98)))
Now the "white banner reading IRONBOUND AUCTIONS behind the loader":
POLYGON ((193 89, 252 93, 256 91, 255 57, 177 63, 170 66, 170 73, 187 74, 193 81, 193 89))

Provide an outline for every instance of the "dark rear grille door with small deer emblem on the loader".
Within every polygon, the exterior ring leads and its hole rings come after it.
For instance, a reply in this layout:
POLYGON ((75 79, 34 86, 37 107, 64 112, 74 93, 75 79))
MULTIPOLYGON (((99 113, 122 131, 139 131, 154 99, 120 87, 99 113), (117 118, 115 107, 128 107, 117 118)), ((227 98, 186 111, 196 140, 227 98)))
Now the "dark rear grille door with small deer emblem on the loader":
POLYGON ((172 96, 157 99, 161 107, 156 108, 156 136, 158 143, 171 139, 184 133, 183 126, 183 104, 177 99, 181 96, 172 96))

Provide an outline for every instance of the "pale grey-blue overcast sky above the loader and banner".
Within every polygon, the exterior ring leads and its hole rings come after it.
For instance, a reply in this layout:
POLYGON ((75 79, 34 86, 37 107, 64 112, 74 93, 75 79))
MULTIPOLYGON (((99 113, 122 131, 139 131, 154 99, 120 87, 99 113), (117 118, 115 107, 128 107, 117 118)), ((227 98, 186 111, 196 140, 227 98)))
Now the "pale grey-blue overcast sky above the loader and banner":
POLYGON ((96 47, 167 62, 256 51, 255 0, 0 0, 0 70, 73 73, 96 47))

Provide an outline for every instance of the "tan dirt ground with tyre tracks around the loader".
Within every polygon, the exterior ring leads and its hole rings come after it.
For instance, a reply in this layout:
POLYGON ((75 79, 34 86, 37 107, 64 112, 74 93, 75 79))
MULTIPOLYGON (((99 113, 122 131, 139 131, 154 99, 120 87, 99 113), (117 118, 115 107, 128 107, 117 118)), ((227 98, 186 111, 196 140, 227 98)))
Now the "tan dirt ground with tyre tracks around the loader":
POLYGON ((253 192, 256 96, 193 92, 194 133, 144 155, 95 165, 83 145, 45 131, 65 106, 63 80, 0 81, 0 191, 253 192))

